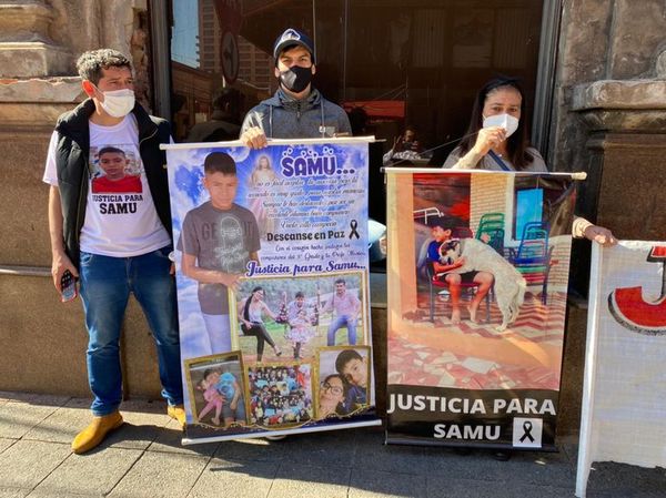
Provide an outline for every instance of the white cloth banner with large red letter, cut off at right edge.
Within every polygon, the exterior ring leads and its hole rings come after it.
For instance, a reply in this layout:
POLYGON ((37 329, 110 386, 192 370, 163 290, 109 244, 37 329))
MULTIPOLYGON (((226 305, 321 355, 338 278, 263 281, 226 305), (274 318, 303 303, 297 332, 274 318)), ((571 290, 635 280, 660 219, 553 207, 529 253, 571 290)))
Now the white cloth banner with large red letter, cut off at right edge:
POLYGON ((594 461, 666 467, 666 242, 593 247, 576 496, 594 461))

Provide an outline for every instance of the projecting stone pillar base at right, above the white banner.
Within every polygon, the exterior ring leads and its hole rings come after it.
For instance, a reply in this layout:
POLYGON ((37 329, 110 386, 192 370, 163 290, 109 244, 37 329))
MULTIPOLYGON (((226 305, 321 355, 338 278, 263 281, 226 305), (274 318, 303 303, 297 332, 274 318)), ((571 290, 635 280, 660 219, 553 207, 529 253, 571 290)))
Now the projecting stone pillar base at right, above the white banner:
MULTIPOLYGON (((666 79, 582 84, 572 110, 586 125, 589 152, 578 213, 619 238, 666 240, 666 79)), ((586 288, 588 244, 575 254, 572 278, 586 288)))

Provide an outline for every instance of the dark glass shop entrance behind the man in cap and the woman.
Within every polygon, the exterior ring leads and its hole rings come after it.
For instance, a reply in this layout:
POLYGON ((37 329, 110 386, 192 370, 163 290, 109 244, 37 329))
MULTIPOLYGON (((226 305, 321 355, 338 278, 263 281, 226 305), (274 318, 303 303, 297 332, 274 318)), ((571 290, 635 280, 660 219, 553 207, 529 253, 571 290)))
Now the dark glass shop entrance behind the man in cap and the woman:
POLYGON ((426 151, 415 165, 440 166, 465 133, 476 90, 494 75, 521 80, 524 119, 533 124, 533 143, 546 152, 556 47, 549 33, 556 32, 559 0, 169 3, 164 28, 155 23, 163 12, 152 12, 155 43, 164 40, 170 48, 155 61, 157 79, 171 74, 164 84, 169 101, 158 102, 157 111, 171 115, 176 142, 224 140, 206 131, 220 115, 221 96, 231 102, 226 119, 236 125, 270 96, 276 89, 272 44, 293 27, 315 41, 314 84, 351 113, 355 134, 385 140, 371 171, 375 218, 384 217, 381 156, 394 139, 413 128, 426 151), (169 71, 160 71, 161 64, 169 71))

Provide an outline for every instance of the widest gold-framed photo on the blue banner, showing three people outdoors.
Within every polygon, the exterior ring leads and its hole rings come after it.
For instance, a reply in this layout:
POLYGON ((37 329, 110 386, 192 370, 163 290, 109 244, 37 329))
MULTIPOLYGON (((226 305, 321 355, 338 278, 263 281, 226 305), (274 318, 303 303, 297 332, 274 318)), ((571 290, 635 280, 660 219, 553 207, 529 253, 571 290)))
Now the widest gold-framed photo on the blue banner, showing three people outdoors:
POLYGON ((360 272, 240 278, 230 306, 245 363, 311 362, 333 339, 369 344, 364 282, 360 272))

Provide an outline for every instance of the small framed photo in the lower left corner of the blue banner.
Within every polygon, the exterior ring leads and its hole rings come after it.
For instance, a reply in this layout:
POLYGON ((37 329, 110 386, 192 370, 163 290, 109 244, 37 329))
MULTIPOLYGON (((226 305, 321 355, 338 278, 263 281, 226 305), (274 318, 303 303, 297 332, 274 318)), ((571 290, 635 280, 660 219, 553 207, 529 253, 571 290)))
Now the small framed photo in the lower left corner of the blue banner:
POLYGON ((185 362, 190 404, 199 424, 246 424, 243 364, 238 352, 185 362))

